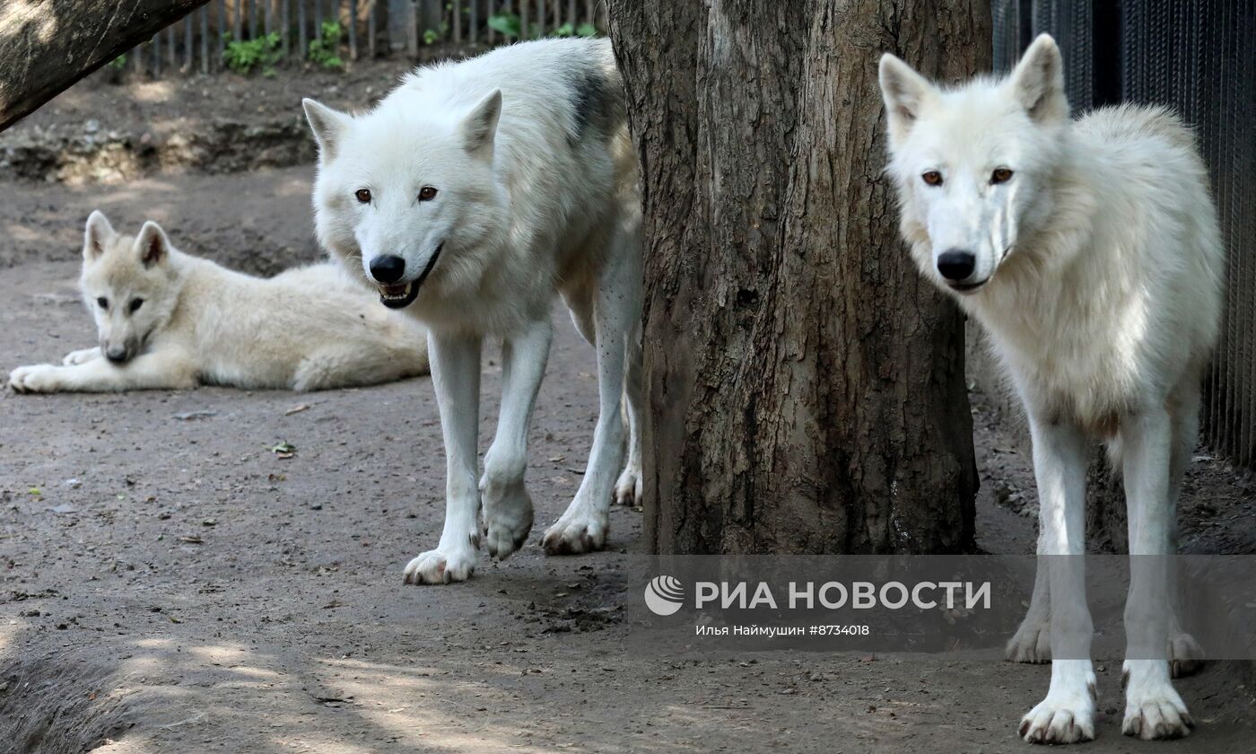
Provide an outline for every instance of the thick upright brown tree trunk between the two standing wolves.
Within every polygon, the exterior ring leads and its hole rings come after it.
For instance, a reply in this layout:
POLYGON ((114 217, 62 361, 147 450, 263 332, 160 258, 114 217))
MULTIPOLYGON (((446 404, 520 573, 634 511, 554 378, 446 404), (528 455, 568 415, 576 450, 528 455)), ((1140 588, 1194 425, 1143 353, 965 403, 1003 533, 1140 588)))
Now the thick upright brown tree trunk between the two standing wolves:
POLYGON ((610 0, 643 168, 662 553, 971 548, 963 325, 898 239, 877 62, 990 67, 982 0, 610 0))

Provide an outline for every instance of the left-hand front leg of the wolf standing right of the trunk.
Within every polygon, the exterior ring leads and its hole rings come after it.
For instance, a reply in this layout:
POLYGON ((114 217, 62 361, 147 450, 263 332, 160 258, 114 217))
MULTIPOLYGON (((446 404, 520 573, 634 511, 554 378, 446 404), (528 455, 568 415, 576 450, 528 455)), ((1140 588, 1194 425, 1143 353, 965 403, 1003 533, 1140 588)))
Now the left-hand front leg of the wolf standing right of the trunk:
POLYGON ((1086 608, 1085 476, 1081 431, 1030 411, 1037 479, 1039 567, 1048 569, 1051 611, 1051 686, 1029 711, 1020 734, 1034 744, 1071 744, 1095 736, 1094 631, 1086 608))

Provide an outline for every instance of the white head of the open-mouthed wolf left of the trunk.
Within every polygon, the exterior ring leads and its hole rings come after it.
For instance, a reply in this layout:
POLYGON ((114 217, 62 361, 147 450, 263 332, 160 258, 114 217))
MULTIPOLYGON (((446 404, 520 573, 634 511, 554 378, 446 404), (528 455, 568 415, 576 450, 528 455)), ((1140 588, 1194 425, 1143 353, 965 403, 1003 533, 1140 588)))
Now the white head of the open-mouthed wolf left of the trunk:
POLYGON ((407 108, 407 94, 398 96, 357 117, 303 102, 319 145, 319 241, 360 264, 394 309, 413 303, 425 284, 474 285, 507 216, 494 171, 501 93, 450 112, 407 108))

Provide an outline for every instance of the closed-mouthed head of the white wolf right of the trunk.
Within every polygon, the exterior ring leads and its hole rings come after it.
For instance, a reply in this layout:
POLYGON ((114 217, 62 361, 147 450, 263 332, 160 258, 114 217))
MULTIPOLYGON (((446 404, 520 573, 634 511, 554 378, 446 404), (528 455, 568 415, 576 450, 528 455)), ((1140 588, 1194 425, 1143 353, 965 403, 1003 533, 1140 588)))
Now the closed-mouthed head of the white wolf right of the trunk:
POLYGON ((1060 50, 1044 34, 1005 79, 955 89, 885 54, 880 90, 903 235, 926 276, 976 293, 1053 210, 1069 122, 1060 50))

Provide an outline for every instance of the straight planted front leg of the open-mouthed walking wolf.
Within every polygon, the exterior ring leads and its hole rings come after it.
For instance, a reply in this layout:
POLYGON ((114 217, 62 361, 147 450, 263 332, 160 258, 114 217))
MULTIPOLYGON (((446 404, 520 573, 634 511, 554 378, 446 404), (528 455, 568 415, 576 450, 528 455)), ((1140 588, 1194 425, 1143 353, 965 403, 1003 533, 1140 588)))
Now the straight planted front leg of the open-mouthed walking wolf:
POLYGON ((480 429, 480 336, 430 332, 432 385, 445 437, 445 528, 436 549, 406 566, 407 584, 466 581, 480 549, 476 440, 480 429))

